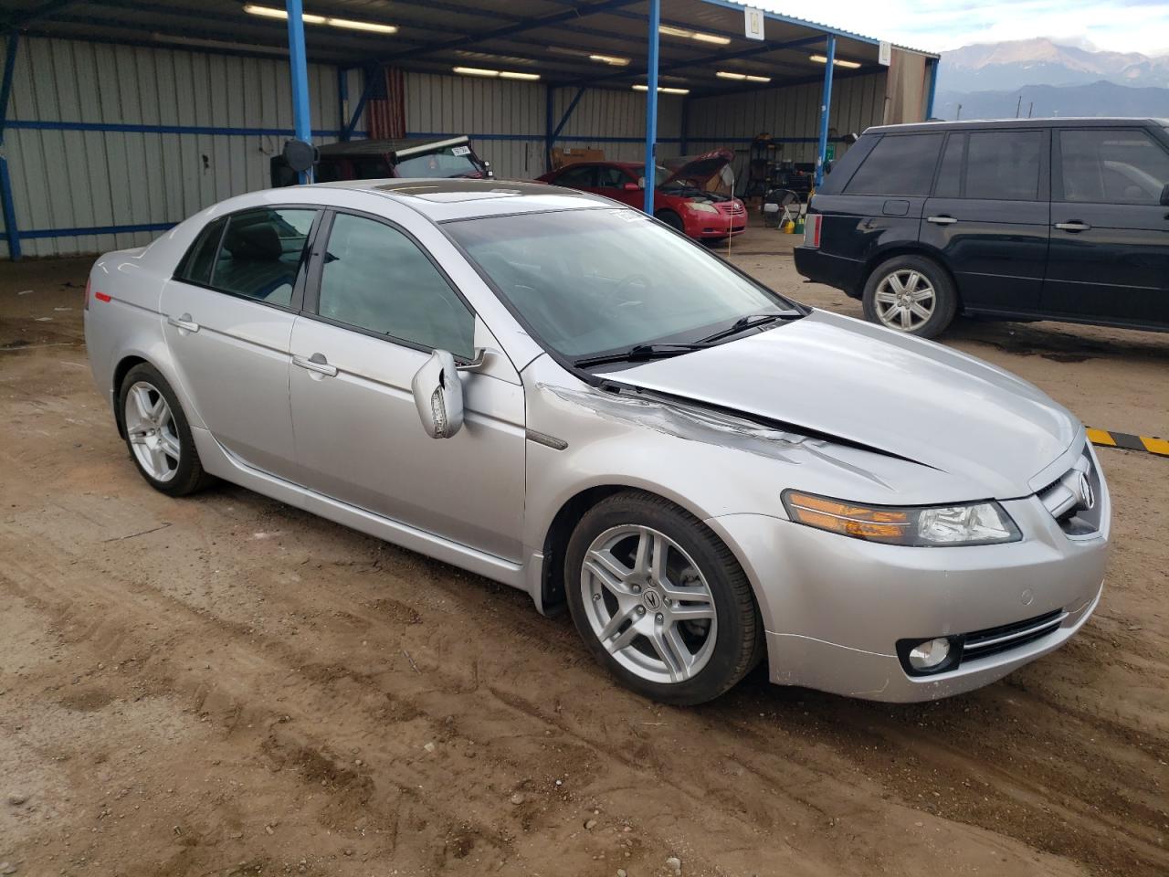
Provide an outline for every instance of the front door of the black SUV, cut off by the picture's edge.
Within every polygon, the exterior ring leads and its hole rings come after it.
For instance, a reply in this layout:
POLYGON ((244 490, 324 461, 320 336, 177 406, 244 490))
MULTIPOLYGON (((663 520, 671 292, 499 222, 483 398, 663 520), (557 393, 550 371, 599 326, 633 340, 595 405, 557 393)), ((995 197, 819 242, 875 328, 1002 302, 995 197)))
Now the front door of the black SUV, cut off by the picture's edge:
POLYGON ((1052 154, 1044 310, 1169 325, 1169 146, 1136 125, 1067 127, 1052 154))

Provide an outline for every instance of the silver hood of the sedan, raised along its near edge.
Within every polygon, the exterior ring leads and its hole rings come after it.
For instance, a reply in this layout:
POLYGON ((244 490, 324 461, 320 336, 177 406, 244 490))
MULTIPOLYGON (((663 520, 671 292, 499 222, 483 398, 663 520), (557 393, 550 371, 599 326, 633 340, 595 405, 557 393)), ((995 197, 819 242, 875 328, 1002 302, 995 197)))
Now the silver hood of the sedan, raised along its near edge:
POLYGON ((1001 368, 826 311, 611 377, 924 463, 983 488, 968 499, 1035 492, 1080 428, 1001 368))

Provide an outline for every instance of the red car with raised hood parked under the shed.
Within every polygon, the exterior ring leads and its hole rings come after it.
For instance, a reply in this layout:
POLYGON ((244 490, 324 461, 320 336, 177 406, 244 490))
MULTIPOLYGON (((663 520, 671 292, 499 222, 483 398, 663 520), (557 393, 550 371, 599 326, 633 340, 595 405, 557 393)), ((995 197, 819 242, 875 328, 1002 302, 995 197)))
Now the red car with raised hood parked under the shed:
MULTIPOLYGON (((653 215, 690 237, 721 240, 742 234, 747 227, 742 201, 706 188, 733 158, 731 150, 714 150, 673 159, 669 164, 675 170, 659 166, 653 215)), ((636 161, 581 161, 538 179, 641 208, 645 206, 644 171, 645 165, 636 161)))

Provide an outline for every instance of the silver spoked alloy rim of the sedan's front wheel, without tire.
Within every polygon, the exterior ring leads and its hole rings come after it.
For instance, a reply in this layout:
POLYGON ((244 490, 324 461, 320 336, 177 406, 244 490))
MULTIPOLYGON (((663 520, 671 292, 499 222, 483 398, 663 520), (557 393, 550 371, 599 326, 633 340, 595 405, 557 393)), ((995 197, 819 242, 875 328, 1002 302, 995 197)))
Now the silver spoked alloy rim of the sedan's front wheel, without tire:
POLYGON ((718 614, 706 578, 664 533, 624 525, 584 554, 581 596, 593 633, 614 660, 649 682, 699 674, 714 651, 718 614))

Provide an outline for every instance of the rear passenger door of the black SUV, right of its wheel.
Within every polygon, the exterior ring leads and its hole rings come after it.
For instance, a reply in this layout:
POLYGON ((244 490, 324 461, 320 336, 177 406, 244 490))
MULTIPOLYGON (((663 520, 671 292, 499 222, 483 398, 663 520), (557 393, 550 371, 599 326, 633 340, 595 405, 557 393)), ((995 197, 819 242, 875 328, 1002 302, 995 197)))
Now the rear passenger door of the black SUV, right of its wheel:
POLYGON ((947 136, 920 240, 954 274, 964 308, 1039 309, 1051 222, 1049 143, 1044 129, 947 136))

